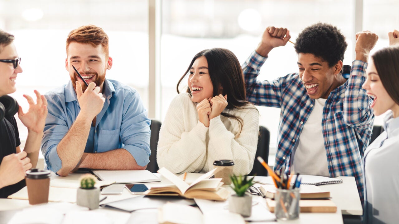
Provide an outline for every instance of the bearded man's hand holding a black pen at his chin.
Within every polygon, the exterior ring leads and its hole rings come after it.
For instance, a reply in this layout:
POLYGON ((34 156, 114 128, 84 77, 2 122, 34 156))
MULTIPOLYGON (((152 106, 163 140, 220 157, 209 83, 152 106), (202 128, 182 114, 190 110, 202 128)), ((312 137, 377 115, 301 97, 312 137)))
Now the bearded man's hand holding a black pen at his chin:
POLYGON ((81 84, 76 81, 76 95, 80 105, 79 114, 84 115, 88 119, 93 119, 103 109, 105 98, 100 92, 100 87, 95 83, 90 83, 85 92, 82 91, 81 84))

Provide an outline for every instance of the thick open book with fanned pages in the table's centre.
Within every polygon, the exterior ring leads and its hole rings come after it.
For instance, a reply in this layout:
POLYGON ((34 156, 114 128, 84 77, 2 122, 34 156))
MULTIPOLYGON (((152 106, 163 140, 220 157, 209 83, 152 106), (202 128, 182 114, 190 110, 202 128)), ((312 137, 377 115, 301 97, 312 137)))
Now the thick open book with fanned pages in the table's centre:
POLYGON ((227 200, 229 191, 221 187, 223 185, 221 178, 209 179, 209 177, 214 175, 215 170, 216 169, 213 169, 208 173, 201 175, 192 184, 188 185, 182 179, 168 171, 168 169, 162 167, 157 172, 173 184, 151 187, 144 193, 144 195, 180 195, 184 198, 227 200))

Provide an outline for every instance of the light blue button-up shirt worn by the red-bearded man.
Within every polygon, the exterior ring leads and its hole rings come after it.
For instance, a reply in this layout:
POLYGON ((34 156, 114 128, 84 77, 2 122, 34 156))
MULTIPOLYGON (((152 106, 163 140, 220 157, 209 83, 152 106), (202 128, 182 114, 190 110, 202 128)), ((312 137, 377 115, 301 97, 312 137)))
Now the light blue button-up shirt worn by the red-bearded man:
MULTIPOLYGON (((104 81, 105 103, 89 131, 85 152, 101 153, 126 149, 140 166, 150 161, 150 119, 138 92, 115 80, 104 81)), ((72 82, 48 92, 48 114, 41 141, 47 168, 61 169, 57 145, 67 134, 80 112, 72 82)), ((123 161, 121 161, 123 162, 123 161)))

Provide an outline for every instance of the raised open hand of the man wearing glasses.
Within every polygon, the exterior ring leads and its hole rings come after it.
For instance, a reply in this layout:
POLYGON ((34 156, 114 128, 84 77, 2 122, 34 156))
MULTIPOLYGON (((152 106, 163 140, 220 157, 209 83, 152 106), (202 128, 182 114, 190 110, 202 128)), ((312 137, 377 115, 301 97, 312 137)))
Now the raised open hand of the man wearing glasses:
POLYGON ((38 90, 34 90, 36 94, 36 104, 32 97, 24 95, 29 103, 28 112, 24 113, 22 107, 18 109, 18 117, 22 124, 28 128, 28 131, 43 133, 45 120, 47 116, 47 100, 43 95, 40 95, 38 90))

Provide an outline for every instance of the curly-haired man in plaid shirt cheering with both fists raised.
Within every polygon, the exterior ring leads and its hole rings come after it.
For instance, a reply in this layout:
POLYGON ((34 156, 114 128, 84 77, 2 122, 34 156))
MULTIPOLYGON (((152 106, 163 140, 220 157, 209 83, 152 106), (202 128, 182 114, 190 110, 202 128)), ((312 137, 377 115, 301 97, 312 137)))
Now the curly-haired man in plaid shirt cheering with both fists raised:
POLYGON ((378 36, 356 34, 356 60, 349 79, 342 76, 347 47, 344 35, 329 24, 305 28, 296 39, 298 73, 274 81, 257 81, 274 47, 290 39, 286 28, 268 27, 242 65, 247 100, 281 108, 275 170, 326 177, 353 176, 363 204, 363 152, 369 144, 374 114, 361 88, 367 53, 378 36))

